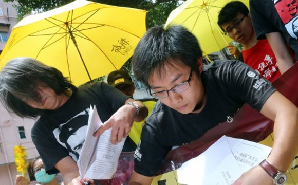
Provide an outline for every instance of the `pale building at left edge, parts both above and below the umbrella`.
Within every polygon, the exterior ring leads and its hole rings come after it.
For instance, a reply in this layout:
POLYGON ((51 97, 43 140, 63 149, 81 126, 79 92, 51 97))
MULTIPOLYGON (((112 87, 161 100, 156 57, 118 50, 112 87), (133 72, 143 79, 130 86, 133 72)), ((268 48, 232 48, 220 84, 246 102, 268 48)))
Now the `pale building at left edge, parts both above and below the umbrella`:
MULTIPOLYGON (((13 3, 0 0, 0 53, 2 52, 13 26, 17 23, 17 12, 13 3)), ((26 147, 27 158, 33 159, 38 152, 31 140, 34 120, 13 116, 0 103, 0 184, 13 185, 17 175, 13 147, 26 147)), ((28 176, 29 178, 29 176, 28 176)), ((36 182, 31 182, 35 184, 36 182)))

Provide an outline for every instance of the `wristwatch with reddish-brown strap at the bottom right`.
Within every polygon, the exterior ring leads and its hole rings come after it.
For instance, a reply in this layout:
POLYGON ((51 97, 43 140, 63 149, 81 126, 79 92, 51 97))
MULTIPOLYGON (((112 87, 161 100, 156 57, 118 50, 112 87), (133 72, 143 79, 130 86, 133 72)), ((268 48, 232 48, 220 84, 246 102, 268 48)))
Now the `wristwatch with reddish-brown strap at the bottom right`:
POLYGON ((259 166, 272 178, 274 185, 283 185, 286 183, 288 179, 287 174, 277 170, 266 159, 259 163, 259 166))

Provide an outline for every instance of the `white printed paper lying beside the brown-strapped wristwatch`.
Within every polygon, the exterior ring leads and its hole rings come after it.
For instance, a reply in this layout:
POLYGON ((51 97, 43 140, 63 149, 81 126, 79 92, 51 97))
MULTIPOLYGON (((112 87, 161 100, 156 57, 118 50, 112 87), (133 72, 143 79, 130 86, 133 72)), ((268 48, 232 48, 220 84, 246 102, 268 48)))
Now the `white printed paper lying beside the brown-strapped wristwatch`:
POLYGON ((271 147, 222 136, 201 155, 177 169, 180 184, 230 185, 241 174, 258 165, 270 154, 271 147))

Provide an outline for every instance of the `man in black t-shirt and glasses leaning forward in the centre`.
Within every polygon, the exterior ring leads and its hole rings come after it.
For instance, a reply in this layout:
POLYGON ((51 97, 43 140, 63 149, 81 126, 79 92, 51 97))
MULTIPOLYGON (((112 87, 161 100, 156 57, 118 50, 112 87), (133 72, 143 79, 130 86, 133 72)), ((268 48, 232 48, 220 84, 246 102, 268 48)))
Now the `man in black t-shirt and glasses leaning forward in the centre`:
MULTIPOLYGON (((198 41, 190 31, 155 26, 136 47, 133 70, 159 101, 143 127, 130 185, 151 184, 173 146, 199 139, 233 117, 244 103, 275 121, 275 141, 267 161, 280 171, 288 169, 298 150, 297 107, 246 64, 234 60, 203 65, 198 41)), ((236 184, 241 182, 263 185, 272 184, 272 179, 257 166, 236 184)))

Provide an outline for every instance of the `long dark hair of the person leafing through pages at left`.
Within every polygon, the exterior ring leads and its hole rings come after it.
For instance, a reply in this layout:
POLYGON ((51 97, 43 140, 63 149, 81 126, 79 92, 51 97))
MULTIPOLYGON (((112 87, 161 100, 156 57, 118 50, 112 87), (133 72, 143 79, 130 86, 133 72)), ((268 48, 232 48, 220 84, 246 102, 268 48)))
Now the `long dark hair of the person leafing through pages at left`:
POLYGON ((70 88, 73 92, 77 87, 72 85, 62 73, 32 58, 15 58, 9 61, 0 72, 0 100, 9 112, 22 118, 35 118, 44 110, 32 108, 20 97, 40 102, 38 85, 44 83, 57 95, 70 88))

